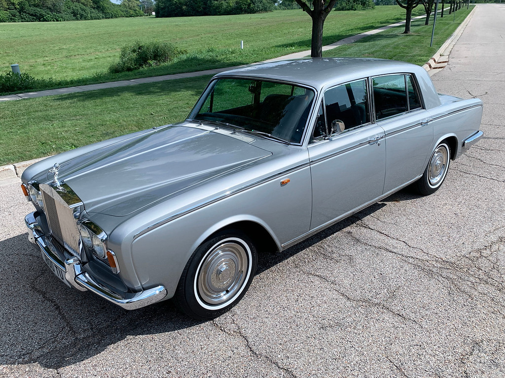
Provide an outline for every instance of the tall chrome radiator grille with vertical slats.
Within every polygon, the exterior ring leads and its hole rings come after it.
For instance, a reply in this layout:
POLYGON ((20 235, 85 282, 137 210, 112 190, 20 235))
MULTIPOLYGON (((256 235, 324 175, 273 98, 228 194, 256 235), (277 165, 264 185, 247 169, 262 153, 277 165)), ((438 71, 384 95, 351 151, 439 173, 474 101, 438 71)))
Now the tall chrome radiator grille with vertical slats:
POLYGON ((65 249, 79 257, 80 234, 72 209, 51 186, 40 185, 49 231, 65 249))

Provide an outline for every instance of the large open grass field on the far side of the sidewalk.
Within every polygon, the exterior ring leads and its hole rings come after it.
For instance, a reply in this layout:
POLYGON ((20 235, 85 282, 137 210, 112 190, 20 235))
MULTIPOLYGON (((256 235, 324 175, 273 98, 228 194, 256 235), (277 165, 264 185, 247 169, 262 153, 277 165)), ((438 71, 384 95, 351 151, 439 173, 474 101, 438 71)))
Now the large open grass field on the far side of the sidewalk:
MULTIPOLYGON (((420 8, 416 14, 422 13, 420 8)), ((403 19, 405 11, 397 6, 334 11, 326 19, 323 42, 403 19)), ((305 12, 287 10, 235 16, 0 23, 0 73, 19 64, 21 72, 35 78, 63 79, 67 80, 63 84, 76 85, 230 67, 310 49, 311 22, 305 12), (188 55, 171 65, 107 74, 121 47, 137 39, 170 41, 188 55)))

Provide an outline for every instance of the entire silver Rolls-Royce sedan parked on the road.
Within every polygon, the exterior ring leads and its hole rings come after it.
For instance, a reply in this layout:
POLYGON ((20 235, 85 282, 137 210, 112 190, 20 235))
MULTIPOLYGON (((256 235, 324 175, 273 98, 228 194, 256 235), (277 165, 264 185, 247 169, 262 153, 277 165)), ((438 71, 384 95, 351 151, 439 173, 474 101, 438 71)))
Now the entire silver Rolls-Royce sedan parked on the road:
POLYGON ((46 158, 22 175, 28 237, 56 277, 126 309, 197 319, 283 250, 407 185, 442 185, 482 137, 479 99, 421 67, 319 58, 216 75, 180 123, 46 158))

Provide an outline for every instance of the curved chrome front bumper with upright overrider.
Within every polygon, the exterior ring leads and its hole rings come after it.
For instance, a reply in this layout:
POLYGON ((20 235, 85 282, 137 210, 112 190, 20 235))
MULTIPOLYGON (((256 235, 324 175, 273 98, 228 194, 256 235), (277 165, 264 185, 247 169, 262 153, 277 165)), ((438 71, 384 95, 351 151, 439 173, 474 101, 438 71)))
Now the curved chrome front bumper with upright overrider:
POLYGON ((38 227, 35 213, 28 214, 25 217, 25 223, 26 227, 28 227, 28 240, 39 246, 41 252, 62 271, 67 281, 66 283, 75 289, 92 291, 128 310, 158 302, 167 295, 167 290, 164 286, 157 286, 133 293, 114 292, 109 287, 100 283, 98 279, 91 277, 85 272, 78 258, 72 257, 62 261, 57 253, 57 248, 51 241, 47 240, 40 227, 38 227))

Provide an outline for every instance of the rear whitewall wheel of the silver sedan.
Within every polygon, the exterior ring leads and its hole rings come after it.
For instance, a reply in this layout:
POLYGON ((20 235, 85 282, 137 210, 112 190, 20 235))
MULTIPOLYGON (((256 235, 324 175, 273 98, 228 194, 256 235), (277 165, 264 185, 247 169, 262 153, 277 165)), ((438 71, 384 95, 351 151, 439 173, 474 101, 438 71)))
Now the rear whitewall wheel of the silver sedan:
POLYGON ((435 193, 447 175, 450 163, 450 147, 440 143, 433 151, 423 176, 414 184, 417 192, 423 196, 435 193))

